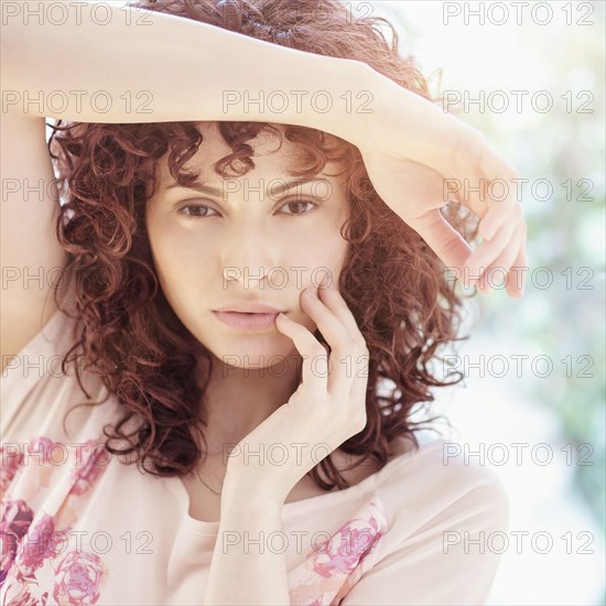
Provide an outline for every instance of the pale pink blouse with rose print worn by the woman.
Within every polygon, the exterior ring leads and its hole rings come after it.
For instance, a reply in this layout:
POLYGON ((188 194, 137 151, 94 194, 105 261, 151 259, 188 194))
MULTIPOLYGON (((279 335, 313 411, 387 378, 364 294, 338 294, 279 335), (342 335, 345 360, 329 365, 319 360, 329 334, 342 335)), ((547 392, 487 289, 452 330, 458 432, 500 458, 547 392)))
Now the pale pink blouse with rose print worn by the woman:
MULTIPOLYGON (((57 311, 2 374, 0 603, 203 604, 218 522, 188 515, 180 478, 104 448, 102 426, 121 415, 113 397, 63 425, 87 401, 75 372, 61 372, 72 329, 57 311)), ((97 377, 84 385, 107 396, 97 377)), ((291 604, 486 602, 499 554, 478 539, 508 532, 509 500, 490 469, 446 461, 447 444, 400 440, 359 484, 284 504, 283 532, 263 547, 285 554, 291 604)))

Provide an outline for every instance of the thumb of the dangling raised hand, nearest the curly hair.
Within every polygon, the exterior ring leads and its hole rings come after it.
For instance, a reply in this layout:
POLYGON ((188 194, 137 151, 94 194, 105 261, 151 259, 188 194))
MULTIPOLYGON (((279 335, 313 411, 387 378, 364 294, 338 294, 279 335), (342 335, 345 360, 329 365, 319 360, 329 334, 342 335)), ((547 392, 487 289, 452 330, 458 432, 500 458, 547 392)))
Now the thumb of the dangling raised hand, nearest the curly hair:
POLYGON ((446 268, 461 270, 472 248, 450 225, 440 210, 434 209, 410 219, 409 225, 425 240, 446 268))

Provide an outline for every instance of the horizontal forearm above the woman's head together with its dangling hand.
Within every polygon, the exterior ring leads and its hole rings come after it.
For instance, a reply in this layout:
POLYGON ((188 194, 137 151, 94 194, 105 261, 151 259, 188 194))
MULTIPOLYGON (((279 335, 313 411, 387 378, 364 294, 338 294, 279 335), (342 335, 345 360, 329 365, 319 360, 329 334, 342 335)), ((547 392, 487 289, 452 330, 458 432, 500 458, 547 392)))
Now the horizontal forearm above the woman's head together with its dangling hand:
POLYGON ((507 199, 493 201, 486 185, 497 178, 512 185, 519 175, 461 120, 358 61, 125 3, 66 7, 69 19, 61 26, 4 15, 10 107, 25 109, 20 93, 50 97, 61 88, 66 94, 52 106, 29 104, 30 115, 96 122, 251 120, 331 132, 360 149, 377 193, 451 274, 484 288, 498 269, 507 292, 521 296, 528 269, 521 206, 512 187, 507 199), (356 102, 354 111, 353 99, 362 107, 356 102), (455 198, 481 218, 483 242, 474 252, 439 212, 450 199, 446 180, 473 185, 455 198))

